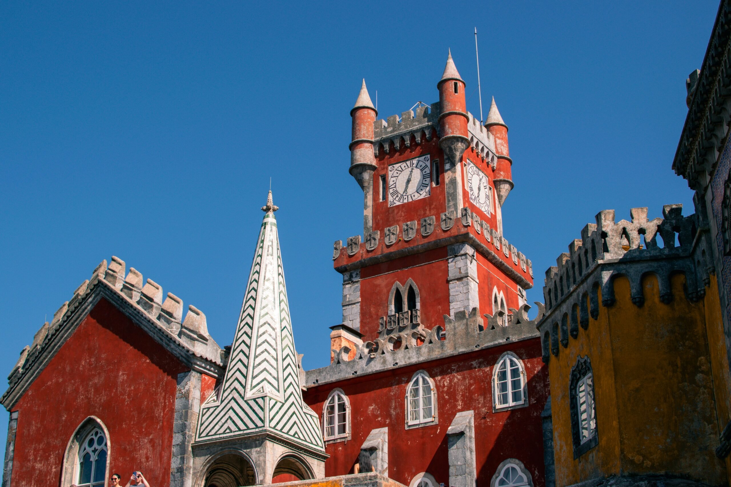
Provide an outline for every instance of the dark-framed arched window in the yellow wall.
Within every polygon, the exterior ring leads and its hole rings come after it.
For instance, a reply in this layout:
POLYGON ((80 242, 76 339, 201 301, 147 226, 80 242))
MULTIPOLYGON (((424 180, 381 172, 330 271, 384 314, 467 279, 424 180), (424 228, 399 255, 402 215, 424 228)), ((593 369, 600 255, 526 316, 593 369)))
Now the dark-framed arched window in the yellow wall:
POLYGON ((588 357, 577 358, 569 381, 569 408, 574 440, 574 458, 577 459, 599 444, 596 433, 596 403, 594 401, 594 373, 588 357))

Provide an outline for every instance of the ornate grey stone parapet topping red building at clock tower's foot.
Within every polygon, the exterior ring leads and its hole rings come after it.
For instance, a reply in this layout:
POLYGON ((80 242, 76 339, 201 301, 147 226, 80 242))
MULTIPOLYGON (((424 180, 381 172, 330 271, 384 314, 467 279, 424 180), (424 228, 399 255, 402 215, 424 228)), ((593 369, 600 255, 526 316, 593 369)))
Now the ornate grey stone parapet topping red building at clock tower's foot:
POLYGON ((536 326, 543 316, 544 307, 539 302, 536 305, 538 315, 533 320, 528 318, 528 310, 531 309, 528 304, 523 304, 520 310, 510 308, 512 315, 509 317, 512 318, 507 326, 500 324, 502 311, 496 315, 480 315, 480 310, 474 307, 469 314, 466 311, 456 312, 453 320, 444 315, 444 326, 436 325, 431 330, 424 329, 418 312, 406 311, 401 313, 404 321, 385 326, 379 332, 379 338, 363 342, 355 350, 352 360, 348 360, 352 351, 349 347, 332 350, 335 355, 333 363, 306 371, 306 385, 332 383, 354 375, 374 374, 537 337, 536 326))

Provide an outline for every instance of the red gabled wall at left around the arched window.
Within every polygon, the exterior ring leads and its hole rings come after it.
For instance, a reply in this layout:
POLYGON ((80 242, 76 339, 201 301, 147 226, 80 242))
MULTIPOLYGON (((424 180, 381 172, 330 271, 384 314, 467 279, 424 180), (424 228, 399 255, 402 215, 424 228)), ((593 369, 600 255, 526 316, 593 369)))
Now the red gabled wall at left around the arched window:
POLYGON ((175 388, 185 370, 102 299, 13 408, 11 487, 59 485, 67 444, 90 415, 109 430, 112 472, 126 483, 137 469, 151 486, 169 486, 175 388))

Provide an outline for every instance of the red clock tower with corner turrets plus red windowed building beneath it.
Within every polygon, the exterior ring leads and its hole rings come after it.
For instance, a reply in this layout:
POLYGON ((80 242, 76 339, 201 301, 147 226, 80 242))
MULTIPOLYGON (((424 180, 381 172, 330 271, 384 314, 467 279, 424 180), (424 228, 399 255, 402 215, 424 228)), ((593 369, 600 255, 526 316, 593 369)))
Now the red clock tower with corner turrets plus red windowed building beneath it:
POLYGON ((507 126, 494 100, 484 126, 467 112, 451 53, 436 87, 439 102, 387 120, 360 88, 349 172, 363 236, 335 243, 343 321, 330 366, 304 372, 304 397, 328 476, 542 487, 548 373, 526 315, 531 261, 502 231, 507 126))

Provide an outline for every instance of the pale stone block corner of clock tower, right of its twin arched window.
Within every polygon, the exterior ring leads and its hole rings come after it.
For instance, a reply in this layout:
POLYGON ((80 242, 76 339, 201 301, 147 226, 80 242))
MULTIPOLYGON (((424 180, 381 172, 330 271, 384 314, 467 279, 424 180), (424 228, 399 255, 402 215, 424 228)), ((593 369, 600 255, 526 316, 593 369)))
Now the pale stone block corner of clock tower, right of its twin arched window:
POLYGON ((477 287, 477 257, 474 247, 466 243, 447 248, 447 282, 450 289, 450 316, 455 312, 480 307, 477 287))

